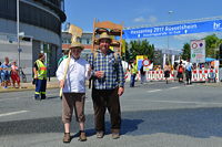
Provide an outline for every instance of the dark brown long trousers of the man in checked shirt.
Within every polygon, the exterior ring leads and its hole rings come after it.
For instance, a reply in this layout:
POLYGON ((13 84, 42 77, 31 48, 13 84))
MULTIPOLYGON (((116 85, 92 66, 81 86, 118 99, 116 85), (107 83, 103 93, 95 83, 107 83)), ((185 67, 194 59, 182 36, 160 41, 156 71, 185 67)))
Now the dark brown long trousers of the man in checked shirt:
POLYGON ((107 108, 110 113, 112 133, 120 130, 121 112, 118 90, 118 87, 114 90, 92 88, 94 123, 97 132, 105 132, 104 116, 107 108))

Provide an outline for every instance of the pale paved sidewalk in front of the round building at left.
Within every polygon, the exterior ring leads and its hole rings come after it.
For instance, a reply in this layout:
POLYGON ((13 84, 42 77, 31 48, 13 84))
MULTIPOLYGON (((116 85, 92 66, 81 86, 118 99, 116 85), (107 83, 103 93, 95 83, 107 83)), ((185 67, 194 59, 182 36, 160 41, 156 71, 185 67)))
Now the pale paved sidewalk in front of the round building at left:
MULTIPOLYGON (((58 87, 59 87, 59 82, 57 77, 50 77, 50 82, 49 80, 47 80, 47 88, 58 88, 58 87)), ((8 88, 0 87, 0 93, 31 91, 36 86, 32 85, 32 82, 28 82, 28 83, 21 83, 21 88, 13 88, 12 85, 9 86, 8 88)))

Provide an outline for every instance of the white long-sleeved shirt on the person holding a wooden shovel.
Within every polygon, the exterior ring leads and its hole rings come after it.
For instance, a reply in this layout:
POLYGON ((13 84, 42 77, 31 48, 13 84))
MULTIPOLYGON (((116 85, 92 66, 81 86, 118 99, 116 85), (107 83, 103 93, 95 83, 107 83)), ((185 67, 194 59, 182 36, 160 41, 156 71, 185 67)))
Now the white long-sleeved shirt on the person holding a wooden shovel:
MULTIPOLYGON (((67 62, 68 59, 64 59, 57 70, 57 78, 59 81, 64 78, 64 69, 67 62)), ((89 67, 90 64, 84 59, 80 57, 78 60, 74 60, 73 57, 71 57, 67 71, 63 93, 85 93, 85 80, 89 80, 91 76, 89 67)))

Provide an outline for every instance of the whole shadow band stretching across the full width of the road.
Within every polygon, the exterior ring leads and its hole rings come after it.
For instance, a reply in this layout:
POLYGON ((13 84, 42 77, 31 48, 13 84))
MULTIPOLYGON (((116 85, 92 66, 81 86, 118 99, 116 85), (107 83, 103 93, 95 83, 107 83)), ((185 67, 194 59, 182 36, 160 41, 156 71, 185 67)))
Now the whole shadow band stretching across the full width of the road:
MULTIPOLYGON (((211 136, 222 137, 222 108, 185 108, 138 111, 122 113, 122 135, 149 135, 157 133, 185 135, 198 138, 211 136)), ((108 120, 107 116, 107 120, 108 120)), ((72 133, 79 132, 78 124, 72 122, 72 133)), ((105 123, 110 133, 110 123, 105 123)), ((93 115, 87 115, 85 128, 88 136, 94 135, 93 115)), ((61 117, 49 117, 0 123, 0 136, 63 133, 61 117)))

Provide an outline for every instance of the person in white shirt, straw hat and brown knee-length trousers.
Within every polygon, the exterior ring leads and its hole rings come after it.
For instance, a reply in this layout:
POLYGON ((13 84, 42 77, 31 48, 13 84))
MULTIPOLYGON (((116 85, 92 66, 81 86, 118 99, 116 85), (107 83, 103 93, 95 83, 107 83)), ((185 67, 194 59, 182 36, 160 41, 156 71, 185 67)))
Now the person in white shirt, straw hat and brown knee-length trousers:
POLYGON ((62 98, 62 122, 64 124, 63 143, 70 143, 70 123, 75 112, 75 118, 80 126, 80 141, 85 141, 84 133, 84 98, 85 98, 85 80, 91 75, 90 64, 81 59, 83 46, 75 42, 72 43, 71 56, 64 59, 57 70, 57 77, 60 82, 60 87, 63 88, 62 98), (65 72, 67 70, 67 72, 65 72), (67 74, 65 74, 67 73, 67 74))

